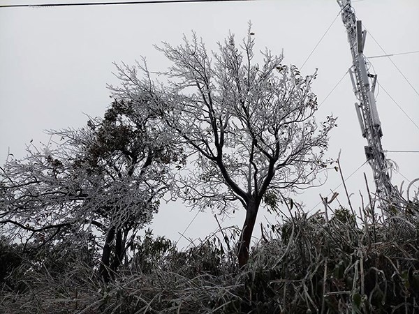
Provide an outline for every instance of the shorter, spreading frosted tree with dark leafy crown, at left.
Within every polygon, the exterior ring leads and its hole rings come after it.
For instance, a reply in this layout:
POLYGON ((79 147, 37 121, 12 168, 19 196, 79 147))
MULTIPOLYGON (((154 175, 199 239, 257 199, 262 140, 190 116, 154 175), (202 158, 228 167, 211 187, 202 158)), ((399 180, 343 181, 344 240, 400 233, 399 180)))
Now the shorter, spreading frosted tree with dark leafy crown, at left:
POLYGON ((73 237, 87 246, 100 234, 99 272, 108 281, 152 220, 170 186, 170 167, 181 150, 170 142, 155 114, 132 112, 115 100, 104 119, 84 128, 52 132, 27 157, 8 160, 0 172, 0 231, 36 239, 39 245, 73 237))

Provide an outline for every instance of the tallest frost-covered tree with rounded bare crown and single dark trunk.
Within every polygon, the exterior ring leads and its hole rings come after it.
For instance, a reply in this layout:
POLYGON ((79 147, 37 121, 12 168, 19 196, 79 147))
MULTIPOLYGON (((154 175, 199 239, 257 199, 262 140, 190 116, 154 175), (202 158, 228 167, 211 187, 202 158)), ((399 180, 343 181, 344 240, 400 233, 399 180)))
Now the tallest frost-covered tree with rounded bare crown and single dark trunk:
POLYGON ((157 49, 172 62, 152 79, 147 66, 119 66, 121 87, 113 96, 159 114, 189 147, 191 174, 182 177, 184 197, 199 209, 246 211, 237 257, 247 264, 261 204, 277 205, 281 191, 307 188, 325 167, 323 153, 335 119, 316 123, 314 75, 269 50, 255 61, 254 34, 241 45, 230 35, 218 52, 207 52, 195 34, 182 45, 157 49), (138 68, 143 77, 138 77, 138 68))

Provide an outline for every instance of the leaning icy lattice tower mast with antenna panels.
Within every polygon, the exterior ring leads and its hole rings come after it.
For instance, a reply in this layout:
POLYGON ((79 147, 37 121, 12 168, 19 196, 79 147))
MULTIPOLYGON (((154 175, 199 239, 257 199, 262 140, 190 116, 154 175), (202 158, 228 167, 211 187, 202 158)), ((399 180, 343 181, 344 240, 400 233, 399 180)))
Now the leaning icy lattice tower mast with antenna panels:
POLYGON ((355 110, 360 122, 362 137, 367 139, 365 156, 372 167, 376 194, 382 200, 397 203, 401 196, 390 182, 388 162, 385 160, 381 145, 383 131, 374 98, 377 75, 369 73, 367 70, 367 61, 364 55, 367 31, 362 31, 362 22, 356 20, 351 0, 337 0, 337 2, 341 7, 342 21, 346 27, 348 42, 351 47, 353 63, 349 69, 349 74, 351 75, 353 91, 359 102, 355 103, 355 110))

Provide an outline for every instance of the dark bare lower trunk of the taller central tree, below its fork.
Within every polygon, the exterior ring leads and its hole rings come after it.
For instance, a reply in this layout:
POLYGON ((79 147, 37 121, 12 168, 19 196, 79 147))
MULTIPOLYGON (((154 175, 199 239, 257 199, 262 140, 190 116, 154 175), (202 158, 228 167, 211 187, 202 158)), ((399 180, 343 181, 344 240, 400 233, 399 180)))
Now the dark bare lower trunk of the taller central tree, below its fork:
POLYGON ((253 227, 256 223, 256 216, 258 216, 259 204, 260 201, 250 200, 246 207, 246 220, 244 220, 239 249, 237 251, 240 268, 244 267, 249 260, 251 235, 253 234, 253 227))

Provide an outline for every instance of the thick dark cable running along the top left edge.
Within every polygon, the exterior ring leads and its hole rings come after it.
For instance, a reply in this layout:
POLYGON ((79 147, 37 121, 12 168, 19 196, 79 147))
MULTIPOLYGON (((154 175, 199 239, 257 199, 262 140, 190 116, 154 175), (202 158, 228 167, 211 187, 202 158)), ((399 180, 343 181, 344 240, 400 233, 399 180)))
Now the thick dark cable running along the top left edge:
POLYGON ((78 2, 78 3, 40 3, 40 4, 3 4, 0 8, 46 8, 52 6, 116 6, 122 4, 153 4, 153 3, 198 3, 198 2, 231 2, 256 0, 145 0, 145 1, 112 1, 112 2, 78 2))

